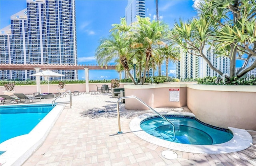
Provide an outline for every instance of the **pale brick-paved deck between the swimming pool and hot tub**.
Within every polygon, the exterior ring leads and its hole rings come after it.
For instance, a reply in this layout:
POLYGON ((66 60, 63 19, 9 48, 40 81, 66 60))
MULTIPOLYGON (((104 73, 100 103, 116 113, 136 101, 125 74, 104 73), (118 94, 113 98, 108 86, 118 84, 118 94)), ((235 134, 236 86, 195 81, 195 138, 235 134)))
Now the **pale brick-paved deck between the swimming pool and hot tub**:
MULTIPOLYGON (((166 148, 138 138, 129 129, 132 118, 148 111, 121 108, 118 132, 116 102, 111 94, 72 96, 42 146, 23 166, 256 166, 256 131, 250 148, 230 154, 193 154, 173 150, 178 158, 167 160, 166 148)), ((46 101, 46 100, 44 100, 46 101)), ((187 108, 165 108, 186 111, 187 108)))

